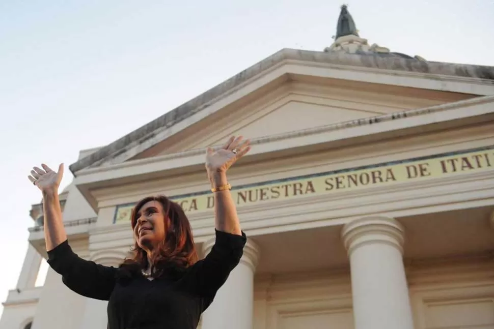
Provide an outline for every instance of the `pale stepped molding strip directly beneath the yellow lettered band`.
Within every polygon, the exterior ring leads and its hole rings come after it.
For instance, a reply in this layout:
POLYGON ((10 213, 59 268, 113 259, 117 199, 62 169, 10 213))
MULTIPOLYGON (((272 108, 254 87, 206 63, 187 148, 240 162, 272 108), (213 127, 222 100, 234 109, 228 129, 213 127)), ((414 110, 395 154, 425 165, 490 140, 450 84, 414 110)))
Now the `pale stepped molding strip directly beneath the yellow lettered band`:
MULTIPOLYGON (((344 225, 365 216, 393 218, 494 204, 494 170, 366 190, 316 195, 238 208, 242 229, 249 235, 344 225), (482 182, 482 184, 479 184, 482 182)), ((196 243, 214 236, 212 211, 189 214, 196 243)), ((124 248, 133 243, 126 221, 95 227, 95 249, 124 248)), ((93 248, 93 247, 92 247, 93 248)))

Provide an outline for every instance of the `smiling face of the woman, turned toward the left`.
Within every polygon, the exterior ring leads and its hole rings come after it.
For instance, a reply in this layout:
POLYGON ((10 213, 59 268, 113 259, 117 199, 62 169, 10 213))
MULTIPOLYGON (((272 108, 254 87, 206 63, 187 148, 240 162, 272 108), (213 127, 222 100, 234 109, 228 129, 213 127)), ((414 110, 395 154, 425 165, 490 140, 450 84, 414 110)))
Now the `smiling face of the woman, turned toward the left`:
POLYGON ((134 238, 139 247, 150 250, 166 236, 163 206, 158 201, 145 203, 136 214, 134 238))

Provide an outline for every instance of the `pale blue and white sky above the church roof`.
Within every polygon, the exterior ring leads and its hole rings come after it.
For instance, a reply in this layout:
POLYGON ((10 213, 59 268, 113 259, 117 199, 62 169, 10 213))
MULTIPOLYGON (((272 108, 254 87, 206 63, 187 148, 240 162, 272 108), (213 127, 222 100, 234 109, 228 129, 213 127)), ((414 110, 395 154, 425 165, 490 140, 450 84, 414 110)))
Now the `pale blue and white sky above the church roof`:
MULTIPOLYGON (((0 1, 0 300, 26 248, 33 165, 73 163, 282 48, 330 46, 342 1, 0 1), (171 4, 170 4, 171 3, 171 4)), ((353 0, 360 36, 494 66, 494 1, 353 0)), ((68 168, 63 186, 72 175, 68 168)), ((2 308, 0 307, 0 312, 2 308)))

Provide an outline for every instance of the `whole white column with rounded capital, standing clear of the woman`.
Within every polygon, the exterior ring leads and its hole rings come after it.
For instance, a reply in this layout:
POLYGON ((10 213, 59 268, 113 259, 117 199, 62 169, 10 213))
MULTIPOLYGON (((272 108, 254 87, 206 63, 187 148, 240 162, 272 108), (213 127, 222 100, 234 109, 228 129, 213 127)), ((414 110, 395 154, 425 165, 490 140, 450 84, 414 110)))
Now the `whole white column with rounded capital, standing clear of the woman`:
POLYGON ((403 226, 365 217, 342 230, 350 258, 355 329, 414 329, 403 265, 403 226))

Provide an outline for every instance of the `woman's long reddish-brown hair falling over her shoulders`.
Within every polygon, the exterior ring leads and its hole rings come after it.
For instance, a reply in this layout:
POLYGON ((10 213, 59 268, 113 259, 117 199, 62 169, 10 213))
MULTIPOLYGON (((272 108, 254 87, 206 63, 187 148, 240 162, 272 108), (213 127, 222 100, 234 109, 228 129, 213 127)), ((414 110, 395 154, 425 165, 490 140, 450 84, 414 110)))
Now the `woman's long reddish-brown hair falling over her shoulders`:
MULTIPOLYGON (((171 201, 166 196, 148 196, 139 201, 132 209, 132 230, 137 224, 139 210, 149 201, 158 201, 163 207, 166 228, 164 241, 158 244, 151 254, 153 277, 159 276, 165 267, 180 270, 196 263, 198 255, 187 216, 178 203, 171 201)), ((140 271, 148 266, 147 253, 139 247, 137 241, 131 250, 131 256, 125 259, 121 266, 134 271, 138 269, 140 271)))

